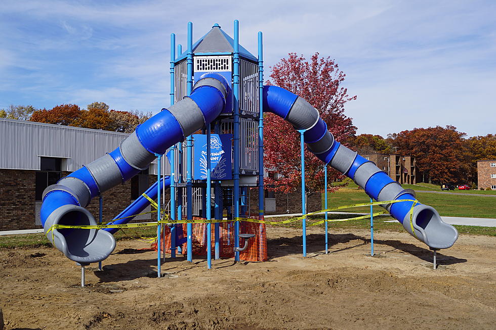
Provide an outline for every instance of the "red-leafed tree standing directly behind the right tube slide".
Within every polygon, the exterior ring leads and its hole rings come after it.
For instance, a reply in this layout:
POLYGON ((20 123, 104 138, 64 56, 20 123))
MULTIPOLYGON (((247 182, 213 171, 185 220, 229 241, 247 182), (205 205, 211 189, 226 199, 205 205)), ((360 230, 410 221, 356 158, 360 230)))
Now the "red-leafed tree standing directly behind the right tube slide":
MULTIPOLYGON (((327 128, 339 142, 346 141, 356 132, 352 119, 344 114, 345 104, 355 100, 348 96, 341 84, 345 74, 338 64, 315 53, 310 61, 303 55, 288 54, 272 69, 268 84, 290 90, 308 101, 320 113, 327 128)), ((301 192, 300 133, 291 124, 274 114, 266 114, 264 120, 264 163, 270 172, 277 172, 278 178, 265 179, 269 190, 288 193, 301 192)), ((307 193, 321 192, 324 188, 323 163, 305 148, 305 190, 307 193)), ((341 174, 332 168, 328 171, 328 182, 341 174)), ((330 186, 329 190, 337 187, 330 186)))

